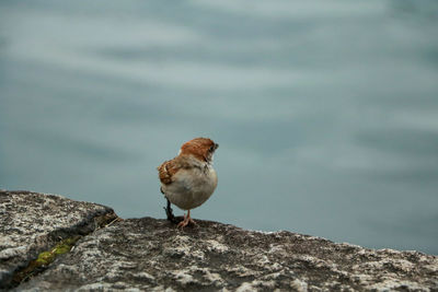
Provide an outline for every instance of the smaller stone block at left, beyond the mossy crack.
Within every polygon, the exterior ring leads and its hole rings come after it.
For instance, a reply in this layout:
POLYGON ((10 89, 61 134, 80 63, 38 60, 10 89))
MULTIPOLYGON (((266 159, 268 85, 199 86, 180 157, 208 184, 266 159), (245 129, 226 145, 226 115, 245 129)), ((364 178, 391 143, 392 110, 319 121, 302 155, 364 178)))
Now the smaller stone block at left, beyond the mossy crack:
POLYGON ((39 253, 94 231, 115 214, 108 207, 60 196, 0 190, 0 289, 4 289, 14 272, 39 253))

